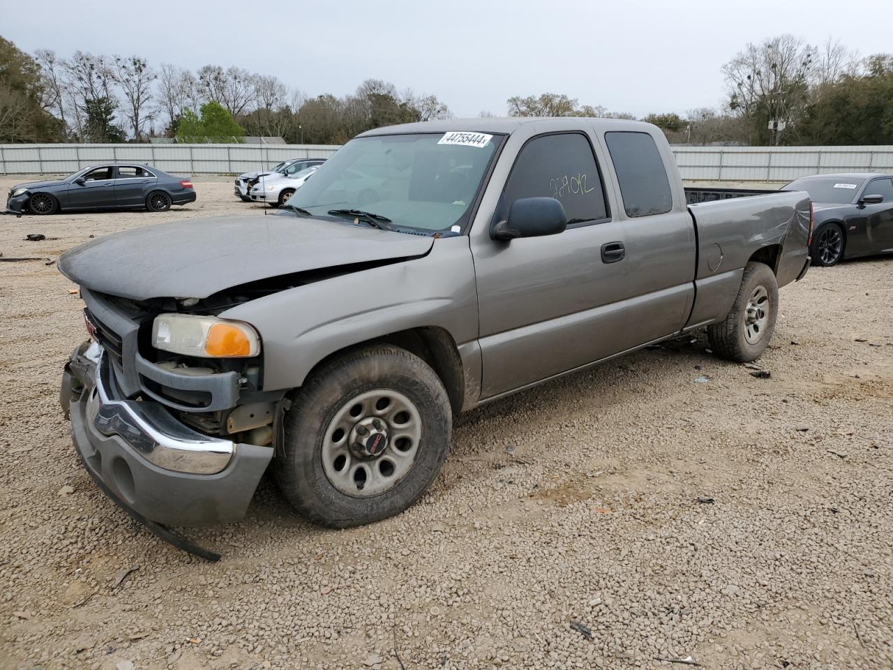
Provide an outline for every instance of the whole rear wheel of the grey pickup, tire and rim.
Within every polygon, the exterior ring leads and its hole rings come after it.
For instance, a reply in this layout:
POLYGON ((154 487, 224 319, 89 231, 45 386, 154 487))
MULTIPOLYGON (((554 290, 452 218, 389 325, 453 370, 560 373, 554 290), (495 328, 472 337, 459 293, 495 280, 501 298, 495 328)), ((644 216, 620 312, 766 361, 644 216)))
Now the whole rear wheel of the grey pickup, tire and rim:
POLYGON ((748 263, 729 315, 707 326, 710 347, 717 356, 736 363, 750 363, 759 358, 772 339, 778 306, 775 273, 768 265, 748 263), (748 306, 752 309, 748 310, 748 306), (759 315, 763 316, 760 320, 756 318, 759 315), (755 331, 757 324, 759 328, 755 331))

